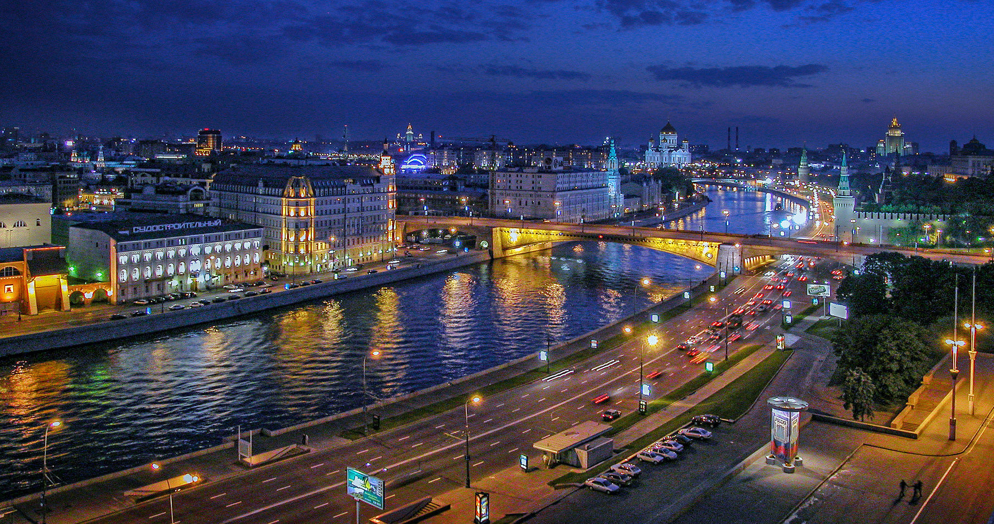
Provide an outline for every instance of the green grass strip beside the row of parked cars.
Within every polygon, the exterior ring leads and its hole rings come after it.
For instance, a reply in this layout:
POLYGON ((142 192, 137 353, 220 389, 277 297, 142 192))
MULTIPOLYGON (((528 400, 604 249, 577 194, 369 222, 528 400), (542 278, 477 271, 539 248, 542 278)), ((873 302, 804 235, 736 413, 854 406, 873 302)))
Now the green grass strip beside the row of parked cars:
MULTIPOLYGON (((745 415, 745 410, 748 410, 756 398, 766 389, 766 385, 776 372, 779 371, 780 366, 783 365, 791 353, 792 351, 790 350, 773 352, 773 354, 763 359, 762 362, 759 362, 752 369, 745 372, 742 377, 732 381, 731 384, 718 390, 714 395, 708 397, 686 413, 677 416, 649 434, 636 438, 627 445, 627 449, 632 451, 641 449, 661 437, 672 434, 687 425, 692 418, 705 413, 715 414, 723 419, 738 419, 742 417, 745 415)), ((551 480, 549 485, 557 486, 579 483, 591 476, 602 473, 610 465, 610 463, 605 462, 591 467, 586 471, 567 473, 551 480)))

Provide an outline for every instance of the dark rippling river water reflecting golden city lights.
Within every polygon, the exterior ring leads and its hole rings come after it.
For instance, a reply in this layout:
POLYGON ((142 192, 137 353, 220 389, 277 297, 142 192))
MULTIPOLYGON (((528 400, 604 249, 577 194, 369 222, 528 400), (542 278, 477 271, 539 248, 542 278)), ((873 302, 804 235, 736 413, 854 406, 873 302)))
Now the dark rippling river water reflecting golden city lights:
MULTIPOLYGON (((709 191, 667 227, 765 232, 780 199, 709 191)), ((687 259, 578 242, 279 310, 98 346, 0 360, 0 500, 281 428, 465 376, 630 315, 701 279, 687 259), (649 283, 642 283, 648 278, 649 283)))

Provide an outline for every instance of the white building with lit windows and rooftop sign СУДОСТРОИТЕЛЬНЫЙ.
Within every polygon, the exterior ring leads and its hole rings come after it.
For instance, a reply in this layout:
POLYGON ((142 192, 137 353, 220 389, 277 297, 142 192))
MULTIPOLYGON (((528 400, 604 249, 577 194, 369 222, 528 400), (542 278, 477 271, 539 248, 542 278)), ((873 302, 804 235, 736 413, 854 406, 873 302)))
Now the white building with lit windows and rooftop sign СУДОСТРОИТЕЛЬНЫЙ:
POLYGON ((120 303, 261 278, 262 229, 198 215, 83 222, 69 228, 69 275, 109 282, 120 303))

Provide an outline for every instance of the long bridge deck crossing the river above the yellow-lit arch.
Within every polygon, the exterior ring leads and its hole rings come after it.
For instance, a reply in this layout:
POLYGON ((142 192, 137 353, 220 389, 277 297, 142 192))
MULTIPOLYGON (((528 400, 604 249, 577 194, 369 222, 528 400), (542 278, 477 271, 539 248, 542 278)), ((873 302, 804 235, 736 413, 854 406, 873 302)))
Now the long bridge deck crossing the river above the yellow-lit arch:
MULTIPOLYGON (((960 263, 986 263, 988 257, 983 255, 971 255, 957 253, 953 251, 923 250, 903 248, 897 246, 879 246, 865 244, 848 244, 833 241, 819 241, 809 239, 785 239, 768 237, 766 235, 737 235, 714 232, 689 232, 683 230, 661 230, 657 228, 639 228, 621 225, 601 225, 601 224, 565 224, 554 222, 535 222, 505 219, 483 219, 465 217, 430 217, 429 223, 424 219, 415 220, 414 217, 398 218, 400 225, 406 226, 406 233, 415 230, 425 229, 495 229, 503 228, 507 230, 536 230, 554 233, 564 233, 569 235, 569 239, 563 242, 576 242, 578 240, 600 240, 602 237, 611 237, 612 242, 624 242, 626 239, 639 241, 642 239, 668 239, 688 242, 706 242, 711 244, 739 244, 744 250, 744 258, 757 255, 782 255, 791 254, 804 257, 822 257, 840 262, 852 260, 855 257, 873 255, 884 252, 897 252, 906 256, 918 256, 931 260, 946 260, 960 263), (470 224, 472 222, 472 224, 470 224)), ((497 254, 495 254, 497 256, 497 254)), ((712 261, 713 264, 713 261, 712 261)))

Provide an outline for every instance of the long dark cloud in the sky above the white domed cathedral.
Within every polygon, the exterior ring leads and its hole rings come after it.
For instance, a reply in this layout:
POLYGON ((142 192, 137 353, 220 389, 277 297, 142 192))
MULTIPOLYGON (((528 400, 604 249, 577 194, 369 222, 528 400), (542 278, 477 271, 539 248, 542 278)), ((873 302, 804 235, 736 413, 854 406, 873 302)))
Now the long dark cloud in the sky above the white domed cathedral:
POLYGON ((809 77, 828 71, 819 64, 804 66, 734 66, 728 68, 689 67, 667 68, 649 66, 646 68, 657 81, 678 81, 694 87, 811 87, 798 84, 798 77, 809 77))

